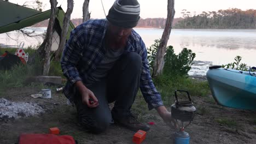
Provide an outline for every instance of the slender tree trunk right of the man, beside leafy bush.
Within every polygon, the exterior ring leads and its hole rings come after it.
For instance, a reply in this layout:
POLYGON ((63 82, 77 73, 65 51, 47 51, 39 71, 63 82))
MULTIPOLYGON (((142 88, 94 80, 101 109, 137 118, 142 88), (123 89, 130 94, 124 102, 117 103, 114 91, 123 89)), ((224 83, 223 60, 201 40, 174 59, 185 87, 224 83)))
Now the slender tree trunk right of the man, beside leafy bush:
POLYGON ((175 14, 174 0, 168 0, 167 19, 165 23, 164 32, 162 33, 162 38, 159 44, 158 52, 156 52, 156 56, 155 56, 155 63, 154 63, 153 74, 152 74, 153 77, 159 75, 162 69, 164 68, 164 56, 166 52, 166 45, 170 37, 174 14, 175 14))

